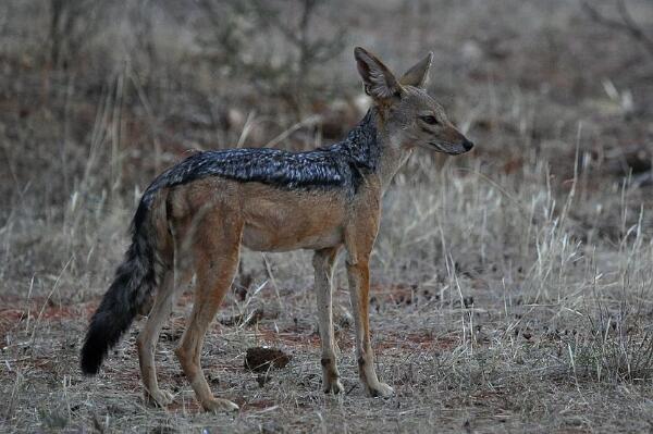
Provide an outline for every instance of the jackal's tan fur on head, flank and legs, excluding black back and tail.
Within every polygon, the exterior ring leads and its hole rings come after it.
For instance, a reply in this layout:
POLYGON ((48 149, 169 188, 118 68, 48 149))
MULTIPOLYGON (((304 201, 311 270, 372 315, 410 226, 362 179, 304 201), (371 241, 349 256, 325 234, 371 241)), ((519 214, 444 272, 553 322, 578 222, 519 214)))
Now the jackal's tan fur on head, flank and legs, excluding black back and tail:
POLYGON ((379 169, 365 177, 353 197, 337 188, 292 190, 220 177, 159 193, 153 206, 158 255, 163 263, 174 266, 163 273, 147 324, 138 337, 148 401, 164 406, 173 398, 159 388, 153 351, 176 295, 195 273, 193 312, 176 355, 206 410, 237 409, 235 404, 213 397, 201 370, 200 355, 205 334, 238 268, 241 246, 259 251, 316 251, 321 364, 323 389, 328 393, 343 390, 333 338, 332 290, 336 257, 344 248, 360 380, 371 396, 393 394, 392 387, 377 376, 369 331, 369 260, 379 230, 383 191, 415 147, 432 145, 436 150, 459 153, 459 142, 465 137, 446 121, 439 106, 411 87, 423 86, 430 55, 401 80, 385 66, 377 66, 377 62, 382 64, 365 50, 357 49, 357 60, 364 82, 379 69, 373 80, 366 82, 366 89, 379 110, 377 124, 384 148, 379 169), (401 99, 395 97, 397 91, 402 92, 401 99), (440 126, 420 124, 419 116, 424 112, 438 116, 440 126))

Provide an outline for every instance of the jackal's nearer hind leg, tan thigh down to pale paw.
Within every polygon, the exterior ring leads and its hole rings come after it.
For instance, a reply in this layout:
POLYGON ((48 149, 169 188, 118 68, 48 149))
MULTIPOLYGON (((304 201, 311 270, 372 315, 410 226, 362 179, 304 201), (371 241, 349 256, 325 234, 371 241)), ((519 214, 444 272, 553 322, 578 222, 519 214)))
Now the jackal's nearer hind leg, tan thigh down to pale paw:
POLYGON ((238 409, 234 402, 213 396, 200 364, 205 334, 238 269, 243 224, 234 219, 220 219, 220 214, 209 212, 197 225, 193 245, 197 273, 195 300, 175 351, 197 400, 212 412, 238 409))

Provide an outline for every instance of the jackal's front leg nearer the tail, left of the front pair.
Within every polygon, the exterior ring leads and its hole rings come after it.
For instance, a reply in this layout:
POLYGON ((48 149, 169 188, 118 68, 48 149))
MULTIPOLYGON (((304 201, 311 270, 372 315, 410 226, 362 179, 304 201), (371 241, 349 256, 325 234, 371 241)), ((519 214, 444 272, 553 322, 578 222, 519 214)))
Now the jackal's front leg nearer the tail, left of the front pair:
POLYGON ((344 390, 337 371, 333 338, 333 270, 338 250, 340 246, 316 250, 312 261, 316 271, 318 321, 322 342, 322 388, 325 394, 338 394, 344 390))

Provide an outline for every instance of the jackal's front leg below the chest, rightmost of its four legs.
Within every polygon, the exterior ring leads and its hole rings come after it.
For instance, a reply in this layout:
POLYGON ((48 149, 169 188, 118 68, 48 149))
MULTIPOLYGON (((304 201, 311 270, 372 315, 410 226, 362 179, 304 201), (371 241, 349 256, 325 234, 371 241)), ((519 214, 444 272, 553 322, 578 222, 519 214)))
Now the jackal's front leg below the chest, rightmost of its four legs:
POLYGON ((358 375, 370 396, 389 397, 394 394, 392 387, 381 383, 374 370, 374 354, 370 344, 369 323, 369 292, 370 269, 369 255, 349 258, 347 260, 347 276, 349 278, 349 296, 354 310, 356 325, 356 359, 358 360, 358 375), (353 263, 349 262, 354 259, 353 263))

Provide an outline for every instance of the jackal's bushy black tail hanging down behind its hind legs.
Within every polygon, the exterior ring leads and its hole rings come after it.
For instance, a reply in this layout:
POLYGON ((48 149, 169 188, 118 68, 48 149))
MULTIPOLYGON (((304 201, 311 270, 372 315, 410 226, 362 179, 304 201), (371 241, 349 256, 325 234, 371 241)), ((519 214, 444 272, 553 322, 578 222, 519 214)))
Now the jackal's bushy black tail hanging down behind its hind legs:
POLYGON ((82 348, 85 374, 98 373, 107 352, 130 328, 156 286, 155 231, 150 228, 148 208, 141 200, 132 225, 132 245, 90 320, 82 348))

